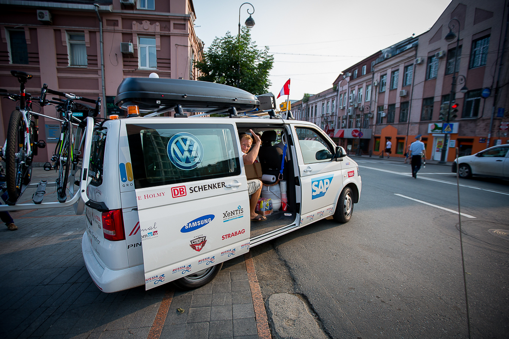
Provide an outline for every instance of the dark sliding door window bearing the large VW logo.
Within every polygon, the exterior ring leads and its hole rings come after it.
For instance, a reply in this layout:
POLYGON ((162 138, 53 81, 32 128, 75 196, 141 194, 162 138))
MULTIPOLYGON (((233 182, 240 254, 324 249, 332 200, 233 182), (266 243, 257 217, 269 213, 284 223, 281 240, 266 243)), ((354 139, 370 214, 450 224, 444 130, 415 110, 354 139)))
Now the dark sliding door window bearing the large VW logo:
POLYGON ((128 124, 136 189, 240 175, 231 125, 128 124))

